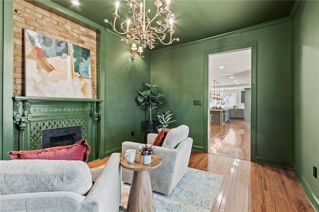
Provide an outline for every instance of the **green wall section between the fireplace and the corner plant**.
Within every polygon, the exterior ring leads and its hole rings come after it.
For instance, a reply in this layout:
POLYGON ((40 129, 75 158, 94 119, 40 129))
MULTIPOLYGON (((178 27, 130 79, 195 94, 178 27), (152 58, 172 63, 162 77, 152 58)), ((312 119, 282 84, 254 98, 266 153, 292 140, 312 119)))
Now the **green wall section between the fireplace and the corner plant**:
POLYGON ((144 58, 131 59, 129 45, 110 33, 105 36, 105 80, 102 90, 105 93, 105 140, 106 152, 120 151, 123 141, 141 142, 141 131, 145 120, 145 110, 136 103, 138 91, 150 82, 150 54, 144 58), (134 136, 131 132, 134 131, 134 136))

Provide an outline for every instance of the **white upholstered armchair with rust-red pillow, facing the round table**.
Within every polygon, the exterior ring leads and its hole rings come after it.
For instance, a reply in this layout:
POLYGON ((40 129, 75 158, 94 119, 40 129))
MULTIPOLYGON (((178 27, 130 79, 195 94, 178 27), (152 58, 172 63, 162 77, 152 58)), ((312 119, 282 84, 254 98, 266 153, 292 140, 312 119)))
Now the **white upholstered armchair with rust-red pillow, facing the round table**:
MULTIPOLYGON (((187 171, 193 139, 188 137, 189 128, 180 125, 171 129, 162 146, 156 146, 155 154, 162 159, 159 168, 150 171, 153 191, 169 195, 187 171)), ((158 134, 149 133, 148 143, 153 144, 158 134)), ((127 149, 139 150, 142 143, 125 141, 122 143, 122 157, 127 149)), ((131 184, 133 171, 122 168, 122 181, 131 184)))

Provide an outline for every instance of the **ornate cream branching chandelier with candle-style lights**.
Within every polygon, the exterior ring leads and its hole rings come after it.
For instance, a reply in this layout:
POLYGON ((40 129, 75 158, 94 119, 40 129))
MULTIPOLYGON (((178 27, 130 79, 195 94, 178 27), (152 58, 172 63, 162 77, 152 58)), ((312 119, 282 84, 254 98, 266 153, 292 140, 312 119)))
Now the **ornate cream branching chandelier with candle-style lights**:
POLYGON ((115 32, 122 35, 126 34, 126 38, 122 38, 121 41, 132 45, 132 54, 138 52, 142 56, 143 49, 146 47, 153 49, 158 44, 157 41, 164 45, 169 45, 174 40, 179 41, 179 38, 172 38, 175 33, 175 30, 173 30, 174 14, 169 10, 169 4, 170 0, 166 0, 166 6, 162 8, 162 2, 156 0, 154 5, 157 7, 157 12, 154 17, 150 17, 151 9, 146 11, 145 0, 140 4, 136 0, 127 0, 130 17, 121 22, 121 30, 119 31, 116 29, 115 22, 120 19, 118 15, 120 3, 116 1, 115 12, 111 14, 113 23, 108 19, 104 19, 104 22, 109 23, 115 32), (161 18, 161 14, 163 14, 164 18, 161 18), (169 40, 167 37, 169 37, 169 40), (137 48, 135 43, 139 44, 139 48, 137 48), (136 51, 137 49, 138 51, 136 51))

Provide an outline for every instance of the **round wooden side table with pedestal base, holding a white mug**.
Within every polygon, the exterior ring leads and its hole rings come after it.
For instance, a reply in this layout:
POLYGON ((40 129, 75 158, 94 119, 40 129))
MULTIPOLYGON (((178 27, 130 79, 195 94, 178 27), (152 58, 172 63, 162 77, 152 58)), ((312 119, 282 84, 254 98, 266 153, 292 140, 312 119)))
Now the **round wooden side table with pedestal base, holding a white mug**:
POLYGON ((152 162, 149 165, 143 165, 140 153, 135 156, 135 163, 128 163, 126 158, 120 162, 125 169, 134 171, 131 184, 127 212, 155 212, 154 197, 150 179, 150 170, 156 169, 161 164, 161 158, 158 155, 152 155, 152 162))

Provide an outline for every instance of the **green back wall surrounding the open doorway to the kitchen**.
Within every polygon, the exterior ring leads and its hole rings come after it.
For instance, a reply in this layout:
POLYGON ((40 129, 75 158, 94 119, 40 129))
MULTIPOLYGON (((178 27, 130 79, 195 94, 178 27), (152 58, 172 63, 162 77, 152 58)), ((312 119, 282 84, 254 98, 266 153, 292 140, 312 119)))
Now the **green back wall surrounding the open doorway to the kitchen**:
POLYGON ((257 42, 256 161, 292 162, 291 21, 212 38, 206 42, 168 48, 151 56, 151 82, 166 95, 165 108, 190 127, 194 149, 207 152, 208 103, 205 52, 257 42), (206 109, 205 109, 206 108, 206 109))

